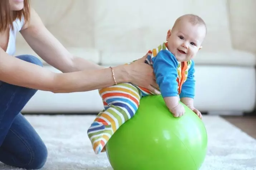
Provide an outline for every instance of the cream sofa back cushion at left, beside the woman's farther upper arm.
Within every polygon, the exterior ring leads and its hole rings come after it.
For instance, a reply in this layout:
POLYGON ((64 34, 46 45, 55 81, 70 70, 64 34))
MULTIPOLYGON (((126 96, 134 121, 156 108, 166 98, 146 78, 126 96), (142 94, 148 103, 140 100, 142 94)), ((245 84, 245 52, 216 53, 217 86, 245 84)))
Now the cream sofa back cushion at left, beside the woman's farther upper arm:
POLYGON ((94 48, 93 1, 32 0, 45 27, 65 46, 94 48))

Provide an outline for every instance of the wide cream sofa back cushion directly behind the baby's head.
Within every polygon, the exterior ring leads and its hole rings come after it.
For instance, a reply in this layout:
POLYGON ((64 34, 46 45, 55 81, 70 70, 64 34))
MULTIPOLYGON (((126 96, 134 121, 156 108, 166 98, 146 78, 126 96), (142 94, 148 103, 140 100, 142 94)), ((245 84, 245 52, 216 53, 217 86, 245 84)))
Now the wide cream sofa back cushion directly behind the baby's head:
POLYGON ((223 0, 112 0, 111 3, 95 0, 93 3, 96 6, 95 46, 103 52, 140 52, 155 48, 166 40, 166 33, 175 20, 188 13, 201 16, 207 24, 204 49, 232 48, 227 2, 223 0))

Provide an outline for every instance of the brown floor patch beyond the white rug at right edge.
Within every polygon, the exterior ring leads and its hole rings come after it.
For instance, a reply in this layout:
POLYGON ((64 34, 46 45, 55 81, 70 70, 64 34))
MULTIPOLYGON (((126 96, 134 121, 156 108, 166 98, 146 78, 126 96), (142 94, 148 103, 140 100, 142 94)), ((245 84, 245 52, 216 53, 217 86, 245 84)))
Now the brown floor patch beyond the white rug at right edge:
POLYGON ((243 132, 256 139, 255 116, 222 116, 225 120, 240 128, 243 132))

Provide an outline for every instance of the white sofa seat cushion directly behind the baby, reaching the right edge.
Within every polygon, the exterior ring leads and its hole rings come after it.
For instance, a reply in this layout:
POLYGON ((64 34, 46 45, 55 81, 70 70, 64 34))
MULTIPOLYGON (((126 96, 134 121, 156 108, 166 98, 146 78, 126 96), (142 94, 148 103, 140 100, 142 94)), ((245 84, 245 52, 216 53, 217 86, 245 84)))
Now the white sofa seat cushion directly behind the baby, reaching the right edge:
MULTIPOLYGON (((143 57, 146 52, 103 52, 102 65, 120 65, 129 63, 133 60, 143 57)), ((256 65, 256 56, 250 52, 239 50, 227 51, 200 51, 194 58, 196 65, 230 65, 230 66, 247 66, 256 65)))

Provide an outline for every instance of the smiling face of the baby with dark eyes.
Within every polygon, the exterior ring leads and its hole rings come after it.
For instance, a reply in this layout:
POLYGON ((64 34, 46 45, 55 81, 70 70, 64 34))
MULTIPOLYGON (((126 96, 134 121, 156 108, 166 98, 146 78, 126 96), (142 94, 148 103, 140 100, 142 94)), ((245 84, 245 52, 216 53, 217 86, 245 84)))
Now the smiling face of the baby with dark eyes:
POLYGON ((167 35, 168 49, 178 61, 189 61, 201 48, 205 35, 206 29, 203 25, 180 21, 171 34, 167 35))

